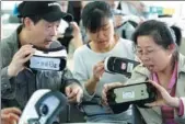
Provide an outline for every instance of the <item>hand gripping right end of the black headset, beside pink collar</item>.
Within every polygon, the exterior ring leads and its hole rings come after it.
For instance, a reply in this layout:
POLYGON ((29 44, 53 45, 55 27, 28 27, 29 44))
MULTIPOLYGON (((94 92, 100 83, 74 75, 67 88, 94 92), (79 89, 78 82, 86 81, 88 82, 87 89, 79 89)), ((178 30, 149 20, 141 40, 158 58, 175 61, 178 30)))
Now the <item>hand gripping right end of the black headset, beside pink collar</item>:
POLYGON ((162 105, 170 105, 173 108, 180 106, 180 99, 173 98, 169 94, 169 92, 159 83, 149 80, 149 82, 154 86, 158 90, 158 99, 152 103, 147 103, 148 106, 162 106, 162 105))

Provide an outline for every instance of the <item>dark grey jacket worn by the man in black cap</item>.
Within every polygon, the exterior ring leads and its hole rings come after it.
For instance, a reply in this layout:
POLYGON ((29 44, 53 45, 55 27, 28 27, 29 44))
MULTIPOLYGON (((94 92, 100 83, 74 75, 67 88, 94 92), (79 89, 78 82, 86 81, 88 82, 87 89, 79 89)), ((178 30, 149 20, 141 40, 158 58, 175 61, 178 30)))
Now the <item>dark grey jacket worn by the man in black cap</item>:
POLYGON ((70 83, 78 83, 69 69, 63 71, 33 71, 24 69, 16 77, 8 76, 8 66, 19 50, 19 33, 22 26, 1 41, 1 108, 18 106, 23 109, 32 93, 37 89, 65 91, 70 83))

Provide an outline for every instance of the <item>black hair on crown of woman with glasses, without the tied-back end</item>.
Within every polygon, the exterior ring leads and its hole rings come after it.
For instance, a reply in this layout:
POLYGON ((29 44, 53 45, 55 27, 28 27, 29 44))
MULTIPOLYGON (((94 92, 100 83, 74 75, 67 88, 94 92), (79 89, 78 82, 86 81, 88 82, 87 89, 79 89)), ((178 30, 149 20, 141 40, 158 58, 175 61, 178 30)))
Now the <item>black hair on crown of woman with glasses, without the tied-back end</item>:
POLYGON ((132 34, 135 45, 137 45, 137 37, 143 35, 151 36, 155 44, 165 49, 169 45, 176 44, 175 34, 172 33, 166 23, 161 21, 149 20, 141 23, 132 34))

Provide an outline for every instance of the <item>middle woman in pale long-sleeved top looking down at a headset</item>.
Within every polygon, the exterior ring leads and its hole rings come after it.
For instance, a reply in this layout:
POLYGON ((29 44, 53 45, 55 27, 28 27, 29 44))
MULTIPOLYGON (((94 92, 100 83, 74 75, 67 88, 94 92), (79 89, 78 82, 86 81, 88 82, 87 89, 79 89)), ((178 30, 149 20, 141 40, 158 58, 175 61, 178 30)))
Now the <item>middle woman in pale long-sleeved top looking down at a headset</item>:
POLYGON ((88 122, 129 122, 130 110, 113 114, 100 101, 104 83, 126 81, 123 75, 105 72, 103 60, 108 56, 134 59, 132 43, 115 35, 111 5, 104 1, 86 4, 82 11, 82 23, 90 41, 74 53, 74 78, 84 87, 84 100, 96 102, 83 105, 88 122), (124 117, 123 117, 124 116, 124 117))

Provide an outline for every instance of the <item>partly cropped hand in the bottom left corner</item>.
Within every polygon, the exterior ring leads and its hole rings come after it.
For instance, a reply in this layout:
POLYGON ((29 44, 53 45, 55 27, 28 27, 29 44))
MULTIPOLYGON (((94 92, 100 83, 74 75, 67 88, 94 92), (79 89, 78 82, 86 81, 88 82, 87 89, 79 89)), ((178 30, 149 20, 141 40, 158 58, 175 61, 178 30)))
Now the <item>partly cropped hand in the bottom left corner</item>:
POLYGON ((2 124, 15 124, 19 122, 21 111, 16 108, 7 108, 1 110, 2 124))

